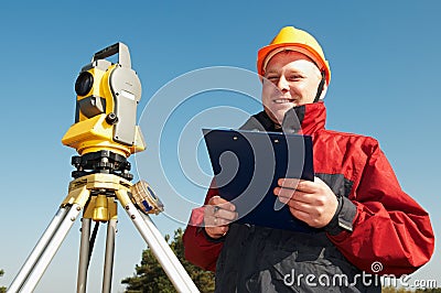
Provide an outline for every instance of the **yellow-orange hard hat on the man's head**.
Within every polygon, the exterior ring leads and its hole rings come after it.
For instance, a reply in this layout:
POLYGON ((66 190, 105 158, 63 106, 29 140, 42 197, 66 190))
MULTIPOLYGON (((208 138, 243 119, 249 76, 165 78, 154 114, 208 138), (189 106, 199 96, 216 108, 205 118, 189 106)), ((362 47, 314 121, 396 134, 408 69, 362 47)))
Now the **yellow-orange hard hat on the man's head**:
POLYGON ((294 26, 282 28, 268 46, 259 50, 257 53, 258 74, 263 76, 269 59, 286 50, 297 51, 310 57, 319 69, 324 72, 326 84, 330 84, 331 68, 319 42, 311 34, 294 26))

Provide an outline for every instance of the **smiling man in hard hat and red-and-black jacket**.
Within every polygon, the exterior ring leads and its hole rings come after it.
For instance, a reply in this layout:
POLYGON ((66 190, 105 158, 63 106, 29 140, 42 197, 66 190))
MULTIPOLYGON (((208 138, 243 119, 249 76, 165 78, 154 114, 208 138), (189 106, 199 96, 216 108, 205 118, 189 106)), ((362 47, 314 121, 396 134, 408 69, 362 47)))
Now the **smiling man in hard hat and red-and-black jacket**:
POLYGON ((234 223, 235 206, 213 183, 184 246, 190 261, 216 271, 216 292, 380 292, 375 274, 409 274, 428 262, 429 216, 401 191, 378 142, 324 128, 331 70, 315 39, 283 28, 259 50, 257 69, 263 111, 243 129, 313 137, 314 181, 280 178, 273 194, 315 229, 234 223))

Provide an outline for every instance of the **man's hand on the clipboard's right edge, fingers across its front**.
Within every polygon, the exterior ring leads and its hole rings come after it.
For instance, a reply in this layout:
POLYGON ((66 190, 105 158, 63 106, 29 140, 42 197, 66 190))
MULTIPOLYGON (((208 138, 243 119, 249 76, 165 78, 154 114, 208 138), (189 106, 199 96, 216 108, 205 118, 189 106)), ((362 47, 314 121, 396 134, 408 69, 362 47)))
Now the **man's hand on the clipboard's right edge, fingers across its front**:
POLYGON ((273 193, 279 200, 289 206, 295 218, 309 226, 322 228, 326 226, 338 206, 338 200, 331 188, 319 177, 314 182, 280 178, 273 193))

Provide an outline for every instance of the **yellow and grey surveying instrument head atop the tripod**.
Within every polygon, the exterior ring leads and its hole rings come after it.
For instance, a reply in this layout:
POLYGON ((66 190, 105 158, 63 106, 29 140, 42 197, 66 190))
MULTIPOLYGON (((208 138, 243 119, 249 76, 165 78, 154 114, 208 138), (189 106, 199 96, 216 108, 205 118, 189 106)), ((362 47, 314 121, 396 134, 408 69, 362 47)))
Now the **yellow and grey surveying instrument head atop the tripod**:
MULTIPOLYGON (((75 89, 75 123, 64 134, 62 143, 76 149, 80 155, 107 150, 128 158, 146 150, 141 130, 136 124, 141 84, 131 69, 127 46, 117 43, 96 53, 92 63, 83 67, 82 75, 89 78, 88 84, 82 95, 75 89), (101 58, 115 53, 120 55, 119 63, 101 58)), ((77 83, 82 82, 80 76, 77 83)))

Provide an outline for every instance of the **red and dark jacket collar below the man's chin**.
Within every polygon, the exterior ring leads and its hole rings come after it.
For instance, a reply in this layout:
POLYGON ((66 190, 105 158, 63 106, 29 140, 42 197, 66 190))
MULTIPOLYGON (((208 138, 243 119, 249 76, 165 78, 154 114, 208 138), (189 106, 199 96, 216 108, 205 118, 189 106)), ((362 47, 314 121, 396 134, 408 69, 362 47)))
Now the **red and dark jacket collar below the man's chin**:
POLYGON ((284 115, 282 129, 278 128, 265 111, 251 116, 240 128, 244 130, 277 131, 298 134, 314 134, 324 129, 326 107, 322 101, 293 107, 284 115))

